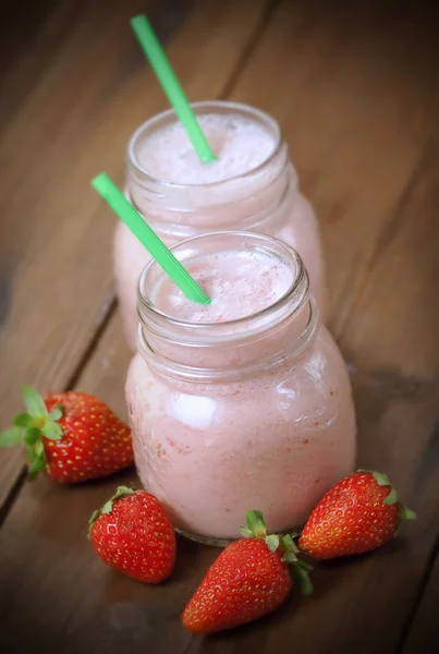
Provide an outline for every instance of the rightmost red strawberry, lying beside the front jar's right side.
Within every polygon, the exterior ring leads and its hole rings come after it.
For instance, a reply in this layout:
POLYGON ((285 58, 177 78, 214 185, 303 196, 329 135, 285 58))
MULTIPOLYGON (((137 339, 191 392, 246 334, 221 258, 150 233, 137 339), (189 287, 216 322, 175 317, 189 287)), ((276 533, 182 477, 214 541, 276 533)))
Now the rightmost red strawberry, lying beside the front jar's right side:
POLYGON ((322 497, 305 524, 298 546, 317 559, 363 554, 387 543, 403 518, 415 517, 398 501, 398 493, 385 474, 359 470, 322 497))

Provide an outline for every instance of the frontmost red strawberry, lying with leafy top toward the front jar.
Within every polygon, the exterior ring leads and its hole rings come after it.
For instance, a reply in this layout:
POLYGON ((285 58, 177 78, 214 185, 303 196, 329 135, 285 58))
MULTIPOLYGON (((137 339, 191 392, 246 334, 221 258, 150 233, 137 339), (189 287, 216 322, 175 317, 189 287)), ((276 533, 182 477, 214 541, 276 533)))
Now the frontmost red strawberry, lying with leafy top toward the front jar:
POLYGON ((241 529, 246 537, 225 547, 184 609, 183 626, 194 633, 231 629, 261 618, 282 604, 293 580, 304 594, 313 591, 310 566, 297 559, 292 537, 267 535, 260 511, 248 511, 246 522, 241 529))

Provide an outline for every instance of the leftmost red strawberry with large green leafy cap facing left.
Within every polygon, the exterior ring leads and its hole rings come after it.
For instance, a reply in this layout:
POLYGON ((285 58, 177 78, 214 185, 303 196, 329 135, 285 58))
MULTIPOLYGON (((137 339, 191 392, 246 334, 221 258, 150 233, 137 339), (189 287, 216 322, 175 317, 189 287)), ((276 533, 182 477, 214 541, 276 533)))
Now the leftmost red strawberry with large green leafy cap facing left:
POLYGON ((24 441, 32 477, 45 470, 57 482, 75 484, 133 464, 129 427, 100 400, 73 391, 42 399, 28 386, 24 399, 27 413, 0 433, 0 446, 24 441))

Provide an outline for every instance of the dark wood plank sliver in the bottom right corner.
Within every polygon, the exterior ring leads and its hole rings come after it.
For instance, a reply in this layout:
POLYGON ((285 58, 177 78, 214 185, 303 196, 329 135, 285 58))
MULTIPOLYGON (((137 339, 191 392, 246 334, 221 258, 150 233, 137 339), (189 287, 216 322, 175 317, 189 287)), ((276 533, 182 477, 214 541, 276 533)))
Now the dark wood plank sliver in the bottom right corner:
POLYGON ((415 614, 403 654, 437 652, 439 643, 439 557, 428 580, 425 594, 415 614))

